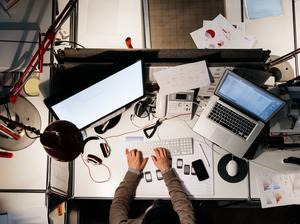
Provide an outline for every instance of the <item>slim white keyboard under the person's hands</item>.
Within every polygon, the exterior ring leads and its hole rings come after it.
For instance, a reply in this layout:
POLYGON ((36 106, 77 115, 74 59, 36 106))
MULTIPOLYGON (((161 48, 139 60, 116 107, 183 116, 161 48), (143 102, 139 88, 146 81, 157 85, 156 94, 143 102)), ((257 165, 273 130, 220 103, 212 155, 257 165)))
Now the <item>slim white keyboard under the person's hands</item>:
POLYGON ((138 149, 143 152, 144 155, 153 154, 153 149, 157 147, 166 148, 171 156, 191 155, 193 150, 193 138, 174 138, 163 139, 161 141, 139 141, 139 142, 127 142, 127 147, 131 149, 138 149))

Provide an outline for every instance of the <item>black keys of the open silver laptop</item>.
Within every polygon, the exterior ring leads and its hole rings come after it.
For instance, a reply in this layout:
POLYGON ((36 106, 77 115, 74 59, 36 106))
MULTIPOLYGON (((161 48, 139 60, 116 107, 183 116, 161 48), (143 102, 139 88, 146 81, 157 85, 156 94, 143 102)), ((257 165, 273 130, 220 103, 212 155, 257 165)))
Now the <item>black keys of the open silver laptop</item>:
POLYGON ((247 139, 255 127, 255 123, 247 120, 220 103, 216 103, 209 113, 208 118, 244 139, 247 139))

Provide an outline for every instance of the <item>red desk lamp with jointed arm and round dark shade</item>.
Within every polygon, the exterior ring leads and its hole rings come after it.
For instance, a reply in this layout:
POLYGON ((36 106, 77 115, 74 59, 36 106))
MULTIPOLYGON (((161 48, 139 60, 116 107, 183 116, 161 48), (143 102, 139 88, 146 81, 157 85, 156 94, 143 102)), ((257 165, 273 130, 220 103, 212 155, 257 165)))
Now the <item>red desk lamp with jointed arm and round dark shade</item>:
MULTIPOLYGON (((68 18, 69 14, 77 4, 77 1, 78 0, 68 1, 60 15, 57 16, 56 20, 48 28, 40 43, 40 47, 30 60, 28 66, 25 68, 16 84, 11 88, 6 97, 0 99, 0 104, 6 104, 8 102, 16 103, 17 97, 22 91, 23 86, 37 69, 37 66, 42 64, 41 62, 45 52, 53 43, 56 33, 68 18)), ((1 115, 0 120, 2 120, 5 124, 20 127, 24 130, 35 133, 38 137, 40 137, 40 141, 46 152, 56 160, 72 161, 83 151, 83 137, 81 132, 74 124, 68 121, 55 121, 45 129, 44 133, 41 134, 36 128, 26 126, 1 115)), ((15 141, 18 141, 18 136, 13 135, 9 128, 5 128, 5 126, 2 125, 0 131, 5 133, 7 137, 14 138, 15 141)))

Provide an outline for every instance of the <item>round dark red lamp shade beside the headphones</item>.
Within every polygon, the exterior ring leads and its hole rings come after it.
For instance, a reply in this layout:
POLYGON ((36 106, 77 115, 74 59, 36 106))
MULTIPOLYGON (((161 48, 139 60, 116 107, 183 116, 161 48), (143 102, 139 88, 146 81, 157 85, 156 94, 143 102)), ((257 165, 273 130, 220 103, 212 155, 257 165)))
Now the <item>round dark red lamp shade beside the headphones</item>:
POLYGON ((83 136, 71 122, 58 120, 49 124, 40 141, 52 158, 69 162, 83 152, 83 136))

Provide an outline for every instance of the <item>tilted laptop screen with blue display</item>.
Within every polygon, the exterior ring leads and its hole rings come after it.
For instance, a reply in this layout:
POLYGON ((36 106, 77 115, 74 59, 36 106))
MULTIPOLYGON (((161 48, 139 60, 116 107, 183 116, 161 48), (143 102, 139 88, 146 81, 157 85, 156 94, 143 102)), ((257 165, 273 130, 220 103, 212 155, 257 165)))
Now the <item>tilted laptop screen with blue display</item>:
POLYGON ((255 118, 267 122, 285 103, 268 91, 227 70, 216 95, 255 118))

